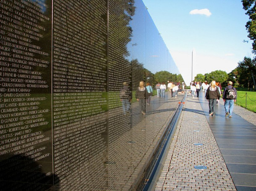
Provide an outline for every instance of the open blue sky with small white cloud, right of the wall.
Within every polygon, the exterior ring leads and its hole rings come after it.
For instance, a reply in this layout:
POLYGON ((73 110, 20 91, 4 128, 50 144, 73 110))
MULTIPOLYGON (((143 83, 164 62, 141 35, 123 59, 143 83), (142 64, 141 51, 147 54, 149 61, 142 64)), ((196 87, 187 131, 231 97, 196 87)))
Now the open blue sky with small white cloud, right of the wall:
POLYGON ((143 2, 186 83, 192 77, 193 48, 193 77, 214 70, 229 73, 244 56, 253 57, 240 0, 143 2))

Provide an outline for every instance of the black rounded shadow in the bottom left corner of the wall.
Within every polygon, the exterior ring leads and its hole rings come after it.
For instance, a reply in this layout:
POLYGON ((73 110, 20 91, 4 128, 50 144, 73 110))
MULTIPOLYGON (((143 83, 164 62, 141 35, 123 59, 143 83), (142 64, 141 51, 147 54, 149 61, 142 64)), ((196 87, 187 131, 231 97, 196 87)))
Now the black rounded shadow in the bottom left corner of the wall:
POLYGON ((42 172, 42 165, 33 159, 23 155, 1 155, 0 160, 1 191, 59 190, 59 178, 51 172, 42 172))

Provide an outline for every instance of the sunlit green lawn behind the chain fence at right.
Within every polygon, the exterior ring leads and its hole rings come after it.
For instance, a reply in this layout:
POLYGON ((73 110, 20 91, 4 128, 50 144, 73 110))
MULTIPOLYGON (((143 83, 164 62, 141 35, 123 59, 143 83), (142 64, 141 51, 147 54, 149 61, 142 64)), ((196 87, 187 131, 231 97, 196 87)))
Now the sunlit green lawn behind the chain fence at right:
POLYGON ((235 103, 247 110, 256 112, 256 92, 237 91, 237 93, 238 96, 235 103))

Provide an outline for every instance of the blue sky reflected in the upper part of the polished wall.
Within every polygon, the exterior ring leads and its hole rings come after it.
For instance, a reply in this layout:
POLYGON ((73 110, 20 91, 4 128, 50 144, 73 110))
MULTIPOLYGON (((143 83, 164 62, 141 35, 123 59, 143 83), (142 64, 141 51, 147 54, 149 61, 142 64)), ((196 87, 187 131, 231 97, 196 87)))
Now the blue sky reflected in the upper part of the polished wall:
POLYGON ((138 59, 146 69, 152 73, 169 71, 179 74, 169 50, 167 49, 159 31, 141 0, 135 0, 135 15, 130 25, 133 29, 132 41, 128 43, 131 59, 138 59))

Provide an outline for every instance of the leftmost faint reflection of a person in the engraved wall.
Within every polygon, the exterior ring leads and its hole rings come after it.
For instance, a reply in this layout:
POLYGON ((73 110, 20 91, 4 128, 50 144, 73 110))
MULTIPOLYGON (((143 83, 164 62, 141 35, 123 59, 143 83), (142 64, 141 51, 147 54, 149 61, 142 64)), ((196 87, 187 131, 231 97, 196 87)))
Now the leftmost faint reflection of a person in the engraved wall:
POLYGON ((120 100, 123 104, 123 113, 128 114, 130 112, 131 107, 131 89, 127 82, 123 82, 123 87, 120 90, 120 100))

